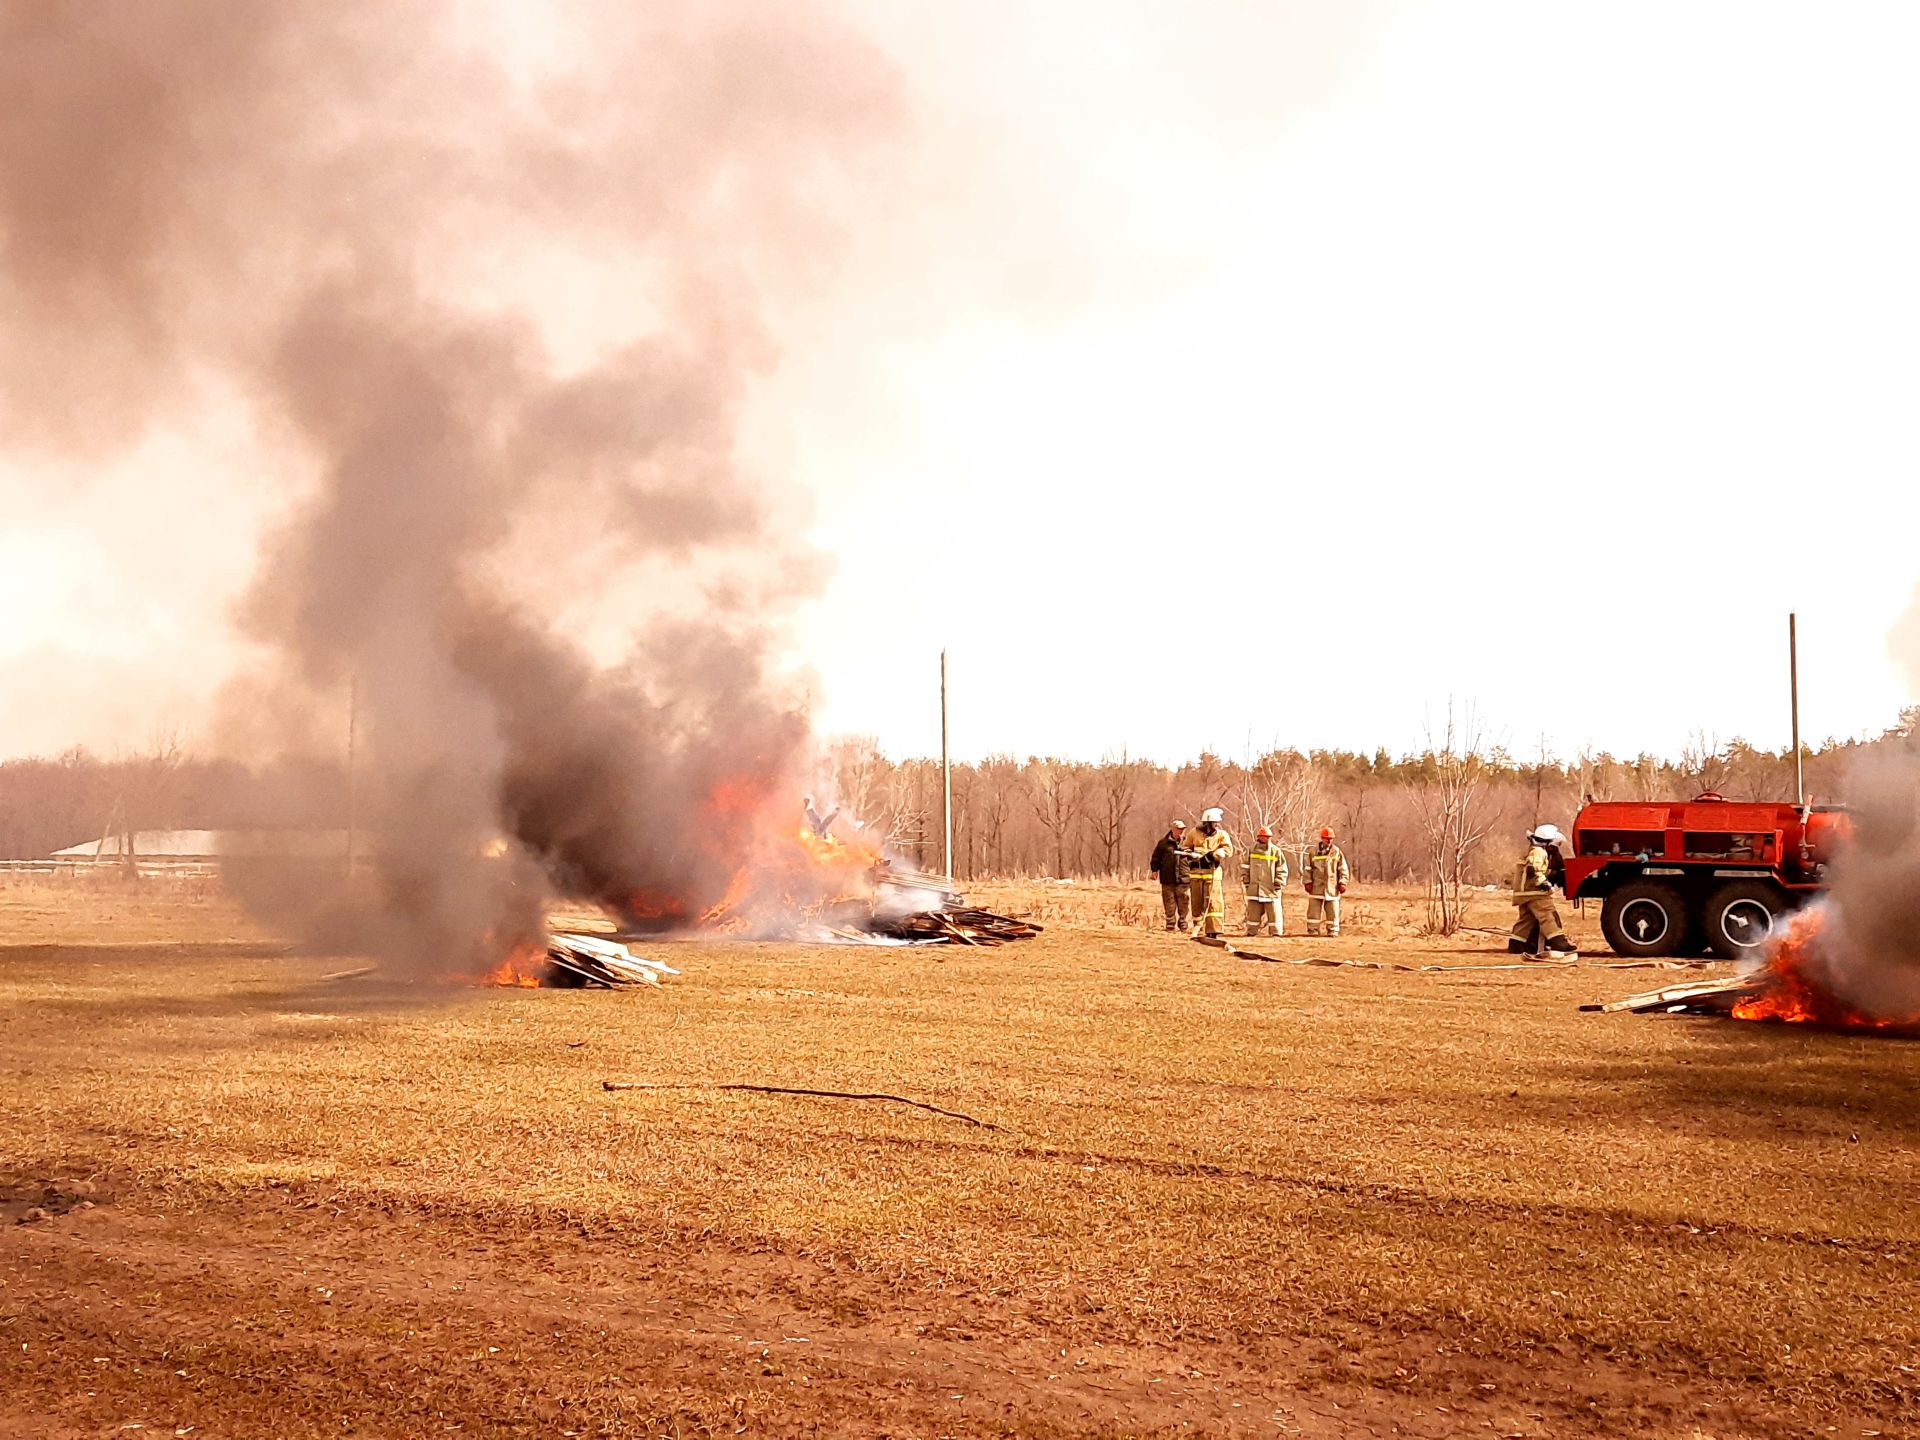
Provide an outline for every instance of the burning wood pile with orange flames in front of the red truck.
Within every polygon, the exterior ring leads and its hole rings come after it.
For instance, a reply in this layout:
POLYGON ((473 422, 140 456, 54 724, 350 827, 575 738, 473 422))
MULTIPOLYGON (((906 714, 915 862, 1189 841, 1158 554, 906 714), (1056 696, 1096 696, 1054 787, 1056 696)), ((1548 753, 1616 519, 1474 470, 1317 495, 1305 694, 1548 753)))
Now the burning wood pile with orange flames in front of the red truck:
POLYGON ((1766 964, 1743 975, 1667 985, 1622 1000, 1586 1004, 1582 1010, 1726 1016, 1776 1025, 1920 1037, 1920 1014, 1884 1016, 1847 1000, 1834 983, 1830 956, 1820 945, 1826 910, 1799 912, 1786 927, 1766 964))

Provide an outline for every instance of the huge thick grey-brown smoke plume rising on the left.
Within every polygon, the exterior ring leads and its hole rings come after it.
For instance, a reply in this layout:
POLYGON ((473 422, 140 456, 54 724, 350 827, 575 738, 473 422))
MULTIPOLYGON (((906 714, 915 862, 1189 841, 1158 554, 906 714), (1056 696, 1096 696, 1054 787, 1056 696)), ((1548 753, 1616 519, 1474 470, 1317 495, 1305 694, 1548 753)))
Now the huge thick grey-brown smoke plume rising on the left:
POLYGON ((872 52, 791 4, 19 0, 0 92, 6 444, 250 409, 300 499, 242 628, 276 714, 357 693, 388 954, 774 864, 816 566, 735 430, 891 125, 872 52), (607 664, 559 616, 636 568, 607 664))

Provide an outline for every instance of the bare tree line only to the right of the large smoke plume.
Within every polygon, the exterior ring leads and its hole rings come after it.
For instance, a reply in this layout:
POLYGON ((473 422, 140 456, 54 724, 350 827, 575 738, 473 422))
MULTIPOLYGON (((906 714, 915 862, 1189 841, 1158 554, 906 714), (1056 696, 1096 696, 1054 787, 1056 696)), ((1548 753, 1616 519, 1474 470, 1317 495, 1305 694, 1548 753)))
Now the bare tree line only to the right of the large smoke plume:
MULTIPOLYGON (((1812 747, 1811 793, 1845 801, 1851 760, 1912 733, 1916 722, 1920 714, 1908 710, 1882 739, 1812 747)), ((937 870, 939 762, 891 760, 872 739, 843 741, 837 755, 852 760, 851 774, 860 778, 868 803, 887 806, 876 816, 887 833, 924 837, 900 852, 937 870), (872 776, 887 783, 876 787, 872 776)), ((1160 766, 1125 751, 1098 762, 995 755, 954 766, 954 874, 1139 877, 1169 820, 1192 824, 1202 808, 1217 804, 1236 835, 1265 826, 1296 856, 1331 826, 1356 876, 1428 885, 1434 924, 1452 927, 1463 891, 1503 881, 1534 824, 1565 828, 1586 799, 1690 799, 1705 789, 1728 799, 1791 799, 1793 755, 1697 732, 1670 760, 1592 749, 1559 758, 1544 743, 1517 758, 1488 741, 1478 716, 1452 707, 1427 745, 1402 756, 1271 749, 1250 760, 1202 753, 1181 766, 1160 766)), ((843 801, 858 812, 851 795, 843 787, 843 801)))

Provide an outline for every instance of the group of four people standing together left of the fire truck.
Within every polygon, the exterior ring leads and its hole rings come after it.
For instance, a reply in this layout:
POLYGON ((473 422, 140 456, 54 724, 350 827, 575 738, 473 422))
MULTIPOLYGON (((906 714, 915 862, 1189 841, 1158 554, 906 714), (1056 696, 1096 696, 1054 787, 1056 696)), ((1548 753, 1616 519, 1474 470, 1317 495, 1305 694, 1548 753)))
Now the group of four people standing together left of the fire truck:
MULTIPOLYGON (((1227 864, 1233 860, 1233 835, 1227 833, 1223 810, 1200 812, 1200 828, 1187 831, 1185 820, 1167 826, 1148 862, 1160 879, 1160 904, 1169 931, 1198 937, 1221 935, 1227 920, 1227 864)), ((1340 897, 1352 879, 1352 870, 1332 829, 1321 829, 1319 845, 1304 856, 1302 879, 1308 891, 1308 935, 1340 933, 1340 897)), ((1273 831, 1261 826, 1254 849, 1240 864, 1246 883, 1246 933, 1284 935, 1286 914, 1281 897, 1286 893, 1290 870, 1286 852, 1273 841, 1273 831)))

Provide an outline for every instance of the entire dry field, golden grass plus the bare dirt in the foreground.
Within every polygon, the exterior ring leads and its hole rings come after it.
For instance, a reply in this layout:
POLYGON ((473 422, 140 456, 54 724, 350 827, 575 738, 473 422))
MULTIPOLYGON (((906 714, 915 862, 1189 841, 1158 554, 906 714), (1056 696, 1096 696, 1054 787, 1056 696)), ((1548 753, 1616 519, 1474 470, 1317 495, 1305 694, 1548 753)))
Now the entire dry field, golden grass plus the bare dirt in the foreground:
MULTIPOLYGON (((420 996, 217 893, 0 891, 0 1436, 1920 1417, 1920 1046, 1576 1008, 1663 972, 1236 960, 1146 887, 975 899, 1050 929, 420 996)), ((1260 948, 1503 960, 1415 910, 1260 948)))

